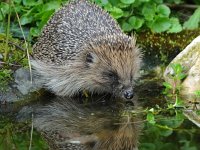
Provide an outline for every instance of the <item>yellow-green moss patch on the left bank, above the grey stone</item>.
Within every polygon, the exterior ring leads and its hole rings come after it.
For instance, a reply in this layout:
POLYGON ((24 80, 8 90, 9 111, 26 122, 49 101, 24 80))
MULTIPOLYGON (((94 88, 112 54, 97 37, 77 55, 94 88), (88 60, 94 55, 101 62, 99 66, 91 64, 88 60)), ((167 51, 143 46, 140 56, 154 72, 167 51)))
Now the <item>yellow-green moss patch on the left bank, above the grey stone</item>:
POLYGON ((23 41, 19 39, 8 38, 6 46, 6 35, 0 34, 0 90, 5 91, 8 83, 12 80, 12 73, 20 68, 28 66, 26 49, 23 41), (4 59, 5 51, 8 52, 8 58, 4 59))

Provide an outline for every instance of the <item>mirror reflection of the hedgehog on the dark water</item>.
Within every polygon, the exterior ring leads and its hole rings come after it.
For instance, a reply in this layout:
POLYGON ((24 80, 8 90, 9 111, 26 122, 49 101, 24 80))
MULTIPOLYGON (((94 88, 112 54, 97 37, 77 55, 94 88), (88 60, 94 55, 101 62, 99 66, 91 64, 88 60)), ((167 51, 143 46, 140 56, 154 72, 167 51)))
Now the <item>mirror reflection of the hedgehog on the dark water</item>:
POLYGON ((123 110, 115 104, 111 110, 56 99, 37 111, 34 126, 52 150, 137 150, 141 124, 130 114, 120 114, 123 110))

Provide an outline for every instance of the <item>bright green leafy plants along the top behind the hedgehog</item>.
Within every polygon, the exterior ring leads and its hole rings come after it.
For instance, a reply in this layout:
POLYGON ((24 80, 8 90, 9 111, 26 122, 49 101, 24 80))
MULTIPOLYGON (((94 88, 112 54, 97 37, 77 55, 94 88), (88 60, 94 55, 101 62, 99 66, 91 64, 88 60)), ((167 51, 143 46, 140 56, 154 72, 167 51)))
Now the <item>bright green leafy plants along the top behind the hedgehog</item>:
MULTIPOLYGON (((183 29, 195 29, 200 23, 198 0, 190 1, 193 9, 181 18, 179 11, 172 6, 189 6, 187 0, 92 0, 108 11, 126 32, 144 31, 176 33, 183 29), (186 5, 185 5, 186 4, 186 5), (196 7, 195 7, 196 5, 196 7), (170 8, 171 7, 171 8, 170 8), (187 16, 188 15, 188 16, 187 16)), ((37 37, 49 17, 64 5, 67 0, 12 0, 0 4, 0 33, 7 29, 11 15, 11 33, 22 37, 16 12, 20 17, 26 37, 37 37), (9 9, 11 7, 11 9, 9 9), (16 12, 15 12, 16 11, 16 12)), ((176 8, 176 7, 175 7, 176 8)), ((188 7, 190 8, 190 7, 188 7)), ((179 9, 180 10, 180 9, 179 9)))

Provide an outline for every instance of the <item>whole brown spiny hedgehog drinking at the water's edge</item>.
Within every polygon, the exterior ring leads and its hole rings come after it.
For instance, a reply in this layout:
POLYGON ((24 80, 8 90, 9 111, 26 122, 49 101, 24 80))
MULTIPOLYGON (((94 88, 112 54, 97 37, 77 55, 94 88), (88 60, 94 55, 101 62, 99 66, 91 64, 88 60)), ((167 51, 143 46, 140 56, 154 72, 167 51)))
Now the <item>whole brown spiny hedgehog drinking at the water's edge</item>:
POLYGON ((73 0, 58 10, 33 46, 31 64, 58 96, 81 91, 130 100, 139 77, 141 52, 102 8, 73 0))

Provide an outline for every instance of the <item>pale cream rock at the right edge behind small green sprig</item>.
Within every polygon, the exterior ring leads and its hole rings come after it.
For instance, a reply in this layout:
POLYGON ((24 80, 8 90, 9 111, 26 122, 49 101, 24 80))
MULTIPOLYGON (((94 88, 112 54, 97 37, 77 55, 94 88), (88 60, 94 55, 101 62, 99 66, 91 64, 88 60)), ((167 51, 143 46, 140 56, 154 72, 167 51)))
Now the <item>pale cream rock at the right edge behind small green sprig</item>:
MULTIPOLYGON (((184 67, 186 79, 181 83, 183 95, 193 95, 200 90, 200 36, 195 38, 170 64, 181 64, 184 67)), ((164 72, 164 79, 172 83, 169 77, 173 74, 170 64, 164 72)))

